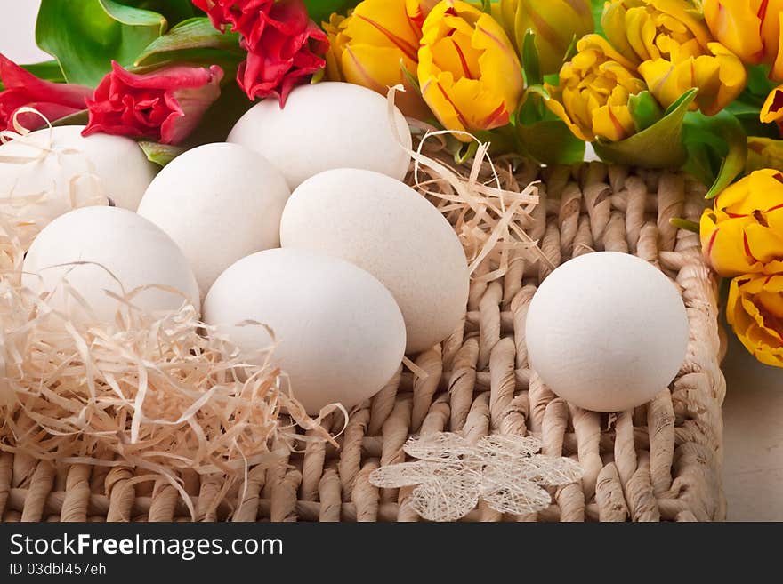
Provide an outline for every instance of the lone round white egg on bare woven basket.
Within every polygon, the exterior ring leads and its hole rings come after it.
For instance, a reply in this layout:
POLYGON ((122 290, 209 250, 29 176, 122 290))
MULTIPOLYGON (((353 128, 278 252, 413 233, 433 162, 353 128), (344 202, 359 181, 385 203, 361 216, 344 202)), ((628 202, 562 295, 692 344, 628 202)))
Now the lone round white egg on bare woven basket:
POLYGON ((688 316, 658 268, 627 253, 588 253, 541 284, 525 337, 531 366, 554 393, 586 410, 621 412, 674 380, 688 316))

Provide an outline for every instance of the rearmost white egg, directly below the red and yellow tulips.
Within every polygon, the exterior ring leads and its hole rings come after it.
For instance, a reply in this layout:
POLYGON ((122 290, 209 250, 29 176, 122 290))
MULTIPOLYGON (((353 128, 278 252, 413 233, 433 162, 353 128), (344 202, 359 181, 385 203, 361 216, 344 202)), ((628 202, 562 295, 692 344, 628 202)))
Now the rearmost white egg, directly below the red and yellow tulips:
MULTIPOLYGON (((394 137, 387 109, 383 96, 359 85, 302 85, 291 92, 283 109, 278 100, 254 105, 228 141, 267 158, 292 189, 333 168, 363 168, 402 180, 410 157, 394 137)), ((410 130, 399 110, 395 121, 409 149, 410 130)))

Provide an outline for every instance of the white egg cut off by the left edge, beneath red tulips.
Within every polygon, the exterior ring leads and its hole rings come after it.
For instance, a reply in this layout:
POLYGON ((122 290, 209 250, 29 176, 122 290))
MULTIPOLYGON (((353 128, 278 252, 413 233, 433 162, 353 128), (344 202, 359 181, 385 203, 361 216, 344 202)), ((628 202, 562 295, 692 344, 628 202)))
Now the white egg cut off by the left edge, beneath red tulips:
POLYGON ((41 225, 109 200, 135 211, 155 176, 153 164, 135 141, 107 134, 83 137, 84 128, 44 128, 0 146, 0 210, 41 225))

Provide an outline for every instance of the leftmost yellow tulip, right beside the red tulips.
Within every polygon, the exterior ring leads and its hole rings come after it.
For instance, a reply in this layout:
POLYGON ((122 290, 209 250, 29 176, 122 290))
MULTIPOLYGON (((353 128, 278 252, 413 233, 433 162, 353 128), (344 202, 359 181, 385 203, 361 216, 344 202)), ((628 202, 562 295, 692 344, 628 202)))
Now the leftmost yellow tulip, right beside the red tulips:
POLYGON ((408 81, 416 78, 424 8, 417 0, 364 0, 347 17, 333 14, 324 23, 330 41, 327 79, 363 85, 384 96, 389 87, 403 84, 408 91, 397 96, 402 112, 429 117, 408 81))

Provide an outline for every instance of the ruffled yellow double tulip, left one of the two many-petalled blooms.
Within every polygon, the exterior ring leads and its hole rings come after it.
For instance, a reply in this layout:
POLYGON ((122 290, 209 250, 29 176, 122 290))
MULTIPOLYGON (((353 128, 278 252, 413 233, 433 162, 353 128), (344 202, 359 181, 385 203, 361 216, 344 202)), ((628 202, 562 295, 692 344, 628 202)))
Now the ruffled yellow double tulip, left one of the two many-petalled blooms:
POLYGON ((561 68, 560 86, 546 105, 580 140, 618 141, 635 132, 628 98, 646 89, 634 63, 593 34, 577 43, 577 54, 561 68))

